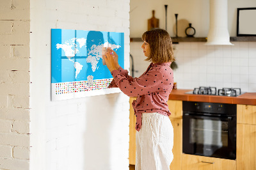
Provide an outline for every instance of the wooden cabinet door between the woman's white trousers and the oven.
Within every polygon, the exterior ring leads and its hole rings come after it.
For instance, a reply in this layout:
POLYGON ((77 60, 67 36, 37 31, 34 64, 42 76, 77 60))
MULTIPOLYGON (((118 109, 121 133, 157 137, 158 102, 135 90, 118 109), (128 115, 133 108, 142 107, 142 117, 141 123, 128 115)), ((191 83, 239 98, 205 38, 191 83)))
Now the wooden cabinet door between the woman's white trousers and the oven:
POLYGON ((173 160, 170 170, 181 169, 182 155, 182 119, 170 118, 173 126, 173 160))

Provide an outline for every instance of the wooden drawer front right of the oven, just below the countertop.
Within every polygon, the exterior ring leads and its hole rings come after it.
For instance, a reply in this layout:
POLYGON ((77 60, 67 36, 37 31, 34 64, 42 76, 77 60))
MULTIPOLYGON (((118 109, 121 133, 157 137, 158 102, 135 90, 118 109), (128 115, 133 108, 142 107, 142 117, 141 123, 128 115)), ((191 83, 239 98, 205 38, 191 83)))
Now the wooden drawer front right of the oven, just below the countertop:
POLYGON ((237 123, 256 125, 256 105, 237 104, 237 123))

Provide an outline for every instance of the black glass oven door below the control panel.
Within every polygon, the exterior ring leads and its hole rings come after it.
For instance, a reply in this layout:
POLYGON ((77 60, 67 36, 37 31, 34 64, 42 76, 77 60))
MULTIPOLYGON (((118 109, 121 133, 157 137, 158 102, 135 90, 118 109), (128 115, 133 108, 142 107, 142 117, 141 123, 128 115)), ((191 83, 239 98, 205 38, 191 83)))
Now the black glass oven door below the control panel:
POLYGON ((236 117, 183 114, 183 153, 236 159, 236 117))

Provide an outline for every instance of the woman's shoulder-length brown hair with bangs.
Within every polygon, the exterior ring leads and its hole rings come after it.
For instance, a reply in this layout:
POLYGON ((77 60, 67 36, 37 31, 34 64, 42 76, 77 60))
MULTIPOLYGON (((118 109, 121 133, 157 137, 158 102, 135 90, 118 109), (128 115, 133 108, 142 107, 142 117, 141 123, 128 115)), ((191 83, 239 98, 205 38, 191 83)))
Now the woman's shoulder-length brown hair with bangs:
POLYGON ((150 45, 150 56, 145 61, 166 63, 175 61, 172 39, 164 29, 152 29, 142 35, 142 40, 150 45))

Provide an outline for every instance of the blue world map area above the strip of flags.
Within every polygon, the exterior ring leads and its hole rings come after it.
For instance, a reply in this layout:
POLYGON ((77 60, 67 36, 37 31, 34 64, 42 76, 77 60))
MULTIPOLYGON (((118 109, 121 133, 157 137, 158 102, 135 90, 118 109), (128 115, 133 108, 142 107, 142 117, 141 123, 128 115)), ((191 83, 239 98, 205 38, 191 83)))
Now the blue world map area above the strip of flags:
POLYGON ((51 29, 52 83, 113 78, 102 64, 102 47, 111 47, 124 68, 124 33, 51 29))

